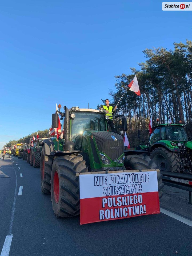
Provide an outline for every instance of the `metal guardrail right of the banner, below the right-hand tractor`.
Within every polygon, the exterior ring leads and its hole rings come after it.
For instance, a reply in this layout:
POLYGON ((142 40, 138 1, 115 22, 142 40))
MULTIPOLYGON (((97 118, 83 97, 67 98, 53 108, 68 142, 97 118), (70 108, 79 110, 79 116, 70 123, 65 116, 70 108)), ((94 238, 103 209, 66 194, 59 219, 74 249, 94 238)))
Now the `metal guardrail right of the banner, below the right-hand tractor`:
POLYGON ((170 171, 160 172, 163 174, 162 182, 164 185, 189 191, 189 203, 192 205, 192 175, 184 173, 172 173, 170 171))

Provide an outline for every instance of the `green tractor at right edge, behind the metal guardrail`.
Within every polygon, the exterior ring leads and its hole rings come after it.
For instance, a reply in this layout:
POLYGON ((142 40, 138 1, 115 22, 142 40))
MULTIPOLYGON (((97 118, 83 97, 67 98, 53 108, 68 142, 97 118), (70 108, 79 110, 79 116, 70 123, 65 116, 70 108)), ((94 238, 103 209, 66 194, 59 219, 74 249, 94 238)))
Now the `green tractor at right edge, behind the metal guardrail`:
POLYGON ((184 124, 158 124, 152 127, 148 142, 135 148, 147 151, 161 171, 192 174, 192 142, 184 124))

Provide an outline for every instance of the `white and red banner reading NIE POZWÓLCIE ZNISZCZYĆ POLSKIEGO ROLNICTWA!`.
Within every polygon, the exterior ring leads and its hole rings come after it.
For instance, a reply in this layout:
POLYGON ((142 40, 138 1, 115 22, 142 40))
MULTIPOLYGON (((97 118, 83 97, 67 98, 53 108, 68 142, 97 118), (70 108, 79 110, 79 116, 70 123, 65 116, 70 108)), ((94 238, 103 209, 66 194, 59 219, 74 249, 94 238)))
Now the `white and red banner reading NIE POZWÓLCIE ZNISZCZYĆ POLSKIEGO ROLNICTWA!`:
POLYGON ((160 213, 157 172, 81 174, 80 225, 160 213))

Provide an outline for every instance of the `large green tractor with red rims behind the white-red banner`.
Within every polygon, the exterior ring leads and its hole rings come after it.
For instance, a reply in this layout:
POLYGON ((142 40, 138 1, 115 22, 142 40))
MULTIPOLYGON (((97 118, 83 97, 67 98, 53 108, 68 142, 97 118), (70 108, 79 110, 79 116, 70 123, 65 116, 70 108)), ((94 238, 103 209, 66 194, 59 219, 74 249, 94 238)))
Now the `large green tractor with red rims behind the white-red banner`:
MULTIPOLYGON (((57 137, 43 141, 40 164, 41 190, 42 193, 51 193, 56 217, 73 217, 79 214, 77 173, 99 171, 107 173, 107 171, 123 171, 126 170, 125 168, 155 169, 154 162, 146 154, 138 155, 137 161, 130 165, 129 161, 124 161, 123 139, 121 135, 107 131, 106 121, 109 117, 106 116, 106 110, 79 109, 79 107, 68 109, 66 106, 64 109, 63 113, 59 108, 56 114, 52 114, 52 128, 58 127, 59 114, 61 115, 63 120, 61 131, 64 129, 64 134, 61 132, 57 137)), ((157 173, 159 197, 161 197, 162 175, 157 173)))

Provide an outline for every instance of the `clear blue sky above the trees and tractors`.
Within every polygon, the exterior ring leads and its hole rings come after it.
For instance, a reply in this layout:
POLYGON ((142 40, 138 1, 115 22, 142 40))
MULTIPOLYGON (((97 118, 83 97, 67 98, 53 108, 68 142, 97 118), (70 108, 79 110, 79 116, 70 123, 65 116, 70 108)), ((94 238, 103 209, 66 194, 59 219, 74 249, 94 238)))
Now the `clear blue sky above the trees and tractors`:
POLYGON ((191 40, 190 11, 161 1, 3 1, 0 149, 49 129, 55 103, 96 108, 145 48, 191 40))

